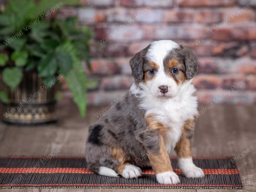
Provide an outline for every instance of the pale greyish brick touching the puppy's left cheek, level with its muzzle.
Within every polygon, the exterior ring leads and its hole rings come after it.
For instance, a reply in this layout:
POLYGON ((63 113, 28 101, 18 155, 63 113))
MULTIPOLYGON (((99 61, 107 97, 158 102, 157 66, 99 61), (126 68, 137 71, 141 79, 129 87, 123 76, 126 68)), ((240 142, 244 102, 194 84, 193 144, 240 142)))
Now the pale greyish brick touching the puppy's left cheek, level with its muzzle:
POLYGON ((134 79, 132 76, 114 76, 104 77, 102 79, 100 89, 103 90, 129 90, 133 84, 134 79))

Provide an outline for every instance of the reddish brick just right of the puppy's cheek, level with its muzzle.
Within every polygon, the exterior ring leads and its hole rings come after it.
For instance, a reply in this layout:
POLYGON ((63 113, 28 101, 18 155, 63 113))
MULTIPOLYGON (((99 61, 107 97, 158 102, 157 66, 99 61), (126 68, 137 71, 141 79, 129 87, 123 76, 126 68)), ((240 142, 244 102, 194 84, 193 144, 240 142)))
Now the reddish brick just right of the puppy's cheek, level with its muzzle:
POLYGON ((216 89, 220 84, 217 76, 198 75, 195 76, 193 84, 197 89, 216 89))

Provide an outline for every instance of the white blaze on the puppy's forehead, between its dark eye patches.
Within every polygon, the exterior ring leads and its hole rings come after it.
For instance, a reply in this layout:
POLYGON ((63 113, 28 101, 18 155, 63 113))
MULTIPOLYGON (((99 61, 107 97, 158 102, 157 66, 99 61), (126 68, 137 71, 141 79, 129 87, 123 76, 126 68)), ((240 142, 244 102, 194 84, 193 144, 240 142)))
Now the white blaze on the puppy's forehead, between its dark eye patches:
POLYGON ((154 41, 150 44, 150 48, 146 54, 149 61, 154 61, 160 68, 163 66, 163 59, 174 48, 180 47, 177 43, 171 40, 154 41))

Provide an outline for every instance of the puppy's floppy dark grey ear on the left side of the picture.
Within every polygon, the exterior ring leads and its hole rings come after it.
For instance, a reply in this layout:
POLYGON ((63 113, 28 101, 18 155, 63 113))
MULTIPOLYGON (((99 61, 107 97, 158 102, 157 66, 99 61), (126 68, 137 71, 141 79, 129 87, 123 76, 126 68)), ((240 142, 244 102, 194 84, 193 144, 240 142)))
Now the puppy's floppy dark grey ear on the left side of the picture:
POLYGON ((129 63, 131 66, 131 74, 134 76, 135 82, 138 84, 143 79, 143 64, 145 62, 145 54, 149 46, 137 52, 133 58, 130 59, 129 63))

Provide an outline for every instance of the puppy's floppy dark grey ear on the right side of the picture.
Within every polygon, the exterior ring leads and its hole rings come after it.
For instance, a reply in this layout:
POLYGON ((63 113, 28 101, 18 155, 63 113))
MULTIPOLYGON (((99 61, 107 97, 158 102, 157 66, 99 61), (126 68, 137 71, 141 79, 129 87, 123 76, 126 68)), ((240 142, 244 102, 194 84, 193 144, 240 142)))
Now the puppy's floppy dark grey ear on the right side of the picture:
POLYGON ((186 79, 192 79, 198 72, 198 59, 188 46, 180 46, 181 54, 186 66, 186 79))

